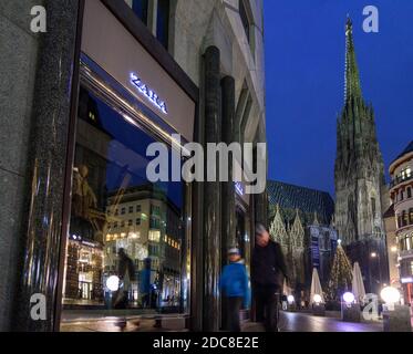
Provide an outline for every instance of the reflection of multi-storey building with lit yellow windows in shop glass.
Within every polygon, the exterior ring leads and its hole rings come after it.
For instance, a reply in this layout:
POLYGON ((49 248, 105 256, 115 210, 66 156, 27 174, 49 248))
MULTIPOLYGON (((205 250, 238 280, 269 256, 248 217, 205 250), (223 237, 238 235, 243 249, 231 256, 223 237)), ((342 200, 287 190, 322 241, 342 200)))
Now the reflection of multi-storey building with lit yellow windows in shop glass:
POLYGON ((179 300, 180 291, 180 215, 165 192, 152 185, 124 190, 121 201, 110 194, 106 212, 111 220, 105 228, 105 275, 116 272, 116 254, 123 248, 136 267, 134 300, 140 300, 141 274, 151 259, 151 284, 162 299, 179 300))

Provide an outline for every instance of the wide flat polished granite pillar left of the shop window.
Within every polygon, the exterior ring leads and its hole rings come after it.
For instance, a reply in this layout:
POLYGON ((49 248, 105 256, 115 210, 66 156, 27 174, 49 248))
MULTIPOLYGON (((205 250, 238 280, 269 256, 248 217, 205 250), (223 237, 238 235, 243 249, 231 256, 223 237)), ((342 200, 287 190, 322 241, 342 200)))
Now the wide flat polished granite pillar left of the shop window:
POLYGON ((56 305, 79 0, 49 0, 45 9, 48 32, 40 37, 14 331, 52 331, 56 305), (31 316, 33 294, 44 295, 45 320, 31 316))

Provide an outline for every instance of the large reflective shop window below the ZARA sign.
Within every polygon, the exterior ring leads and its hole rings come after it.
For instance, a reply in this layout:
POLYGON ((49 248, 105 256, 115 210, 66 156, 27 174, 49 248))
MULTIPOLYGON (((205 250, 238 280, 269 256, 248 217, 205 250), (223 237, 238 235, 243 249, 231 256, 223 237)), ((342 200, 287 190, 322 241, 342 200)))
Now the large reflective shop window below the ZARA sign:
POLYGON ((146 313, 186 309, 188 268, 183 252, 188 249, 164 240, 167 236, 179 244, 189 242, 187 187, 147 180, 145 153, 154 142, 143 126, 127 122, 106 98, 81 87, 63 322, 73 316, 73 309, 79 315, 115 309, 145 309, 146 313), (147 219, 151 206, 156 230, 147 219))

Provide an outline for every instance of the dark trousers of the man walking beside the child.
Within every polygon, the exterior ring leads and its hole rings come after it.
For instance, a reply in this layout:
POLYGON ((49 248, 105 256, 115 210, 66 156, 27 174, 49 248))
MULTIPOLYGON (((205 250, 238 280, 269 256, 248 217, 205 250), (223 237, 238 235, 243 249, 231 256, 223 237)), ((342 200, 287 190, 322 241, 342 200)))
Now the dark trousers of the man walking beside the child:
POLYGON ((255 287, 257 322, 264 322, 267 332, 278 332, 279 289, 257 284, 255 287))

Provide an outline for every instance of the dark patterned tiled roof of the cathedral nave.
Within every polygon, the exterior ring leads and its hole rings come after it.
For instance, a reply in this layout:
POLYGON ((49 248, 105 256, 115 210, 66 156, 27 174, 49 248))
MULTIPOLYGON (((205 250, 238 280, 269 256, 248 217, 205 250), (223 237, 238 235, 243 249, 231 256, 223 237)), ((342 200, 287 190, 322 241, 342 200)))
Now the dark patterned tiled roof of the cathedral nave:
POLYGON ((281 209, 299 209, 306 214, 314 214, 320 222, 329 225, 334 214, 334 201, 330 194, 317 189, 293 186, 281 181, 269 180, 267 184, 269 204, 281 209))

